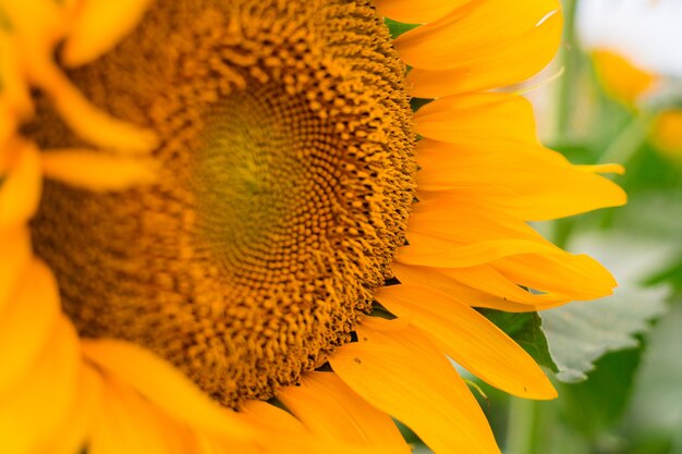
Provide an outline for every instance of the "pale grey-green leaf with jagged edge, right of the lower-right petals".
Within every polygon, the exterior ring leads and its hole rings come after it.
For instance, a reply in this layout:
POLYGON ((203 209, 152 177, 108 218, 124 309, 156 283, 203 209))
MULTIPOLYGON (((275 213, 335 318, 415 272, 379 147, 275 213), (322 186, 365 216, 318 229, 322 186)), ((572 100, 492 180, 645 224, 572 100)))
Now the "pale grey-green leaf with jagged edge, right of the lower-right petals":
POLYGON ((638 346, 633 336, 665 311, 660 289, 617 289, 612 297, 577 302, 541 314, 557 378, 572 383, 587 379, 594 361, 608 352, 638 346))

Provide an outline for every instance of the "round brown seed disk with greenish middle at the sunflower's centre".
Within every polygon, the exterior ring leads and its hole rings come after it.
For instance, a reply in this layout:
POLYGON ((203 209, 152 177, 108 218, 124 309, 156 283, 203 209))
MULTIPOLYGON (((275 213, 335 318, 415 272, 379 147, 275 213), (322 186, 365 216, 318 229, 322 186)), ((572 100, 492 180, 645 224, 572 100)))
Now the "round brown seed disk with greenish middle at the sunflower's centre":
MULTIPOLYGON (((233 407, 350 342, 416 168, 404 66, 367 2, 158 2, 71 75, 162 139, 153 186, 46 186, 35 247, 82 335, 150 348, 233 407)), ((47 108, 33 136, 81 145, 47 108)))

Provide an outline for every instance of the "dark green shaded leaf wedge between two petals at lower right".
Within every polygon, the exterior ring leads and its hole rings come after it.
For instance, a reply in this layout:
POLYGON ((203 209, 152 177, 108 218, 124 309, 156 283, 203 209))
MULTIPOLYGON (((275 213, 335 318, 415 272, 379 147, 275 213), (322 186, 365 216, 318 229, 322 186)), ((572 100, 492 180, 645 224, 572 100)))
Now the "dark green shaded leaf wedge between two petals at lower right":
POLYGON ((543 332, 543 320, 537 312, 512 314, 494 309, 478 309, 488 320, 504 331, 523 347, 537 364, 557 372, 543 332))

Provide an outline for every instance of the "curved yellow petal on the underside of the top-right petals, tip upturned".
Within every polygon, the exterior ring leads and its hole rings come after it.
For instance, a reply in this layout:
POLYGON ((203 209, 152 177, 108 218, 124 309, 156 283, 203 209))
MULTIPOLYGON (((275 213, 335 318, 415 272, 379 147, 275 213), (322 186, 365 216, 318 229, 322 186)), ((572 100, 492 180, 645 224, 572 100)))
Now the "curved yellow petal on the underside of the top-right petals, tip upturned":
POLYGON ((455 66, 444 71, 413 69, 406 77, 411 95, 439 98, 504 87, 532 77, 551 61, 561 40, 562 15, 552 11, 539 25, 487 52, 486 59, 453 60, 455 66))

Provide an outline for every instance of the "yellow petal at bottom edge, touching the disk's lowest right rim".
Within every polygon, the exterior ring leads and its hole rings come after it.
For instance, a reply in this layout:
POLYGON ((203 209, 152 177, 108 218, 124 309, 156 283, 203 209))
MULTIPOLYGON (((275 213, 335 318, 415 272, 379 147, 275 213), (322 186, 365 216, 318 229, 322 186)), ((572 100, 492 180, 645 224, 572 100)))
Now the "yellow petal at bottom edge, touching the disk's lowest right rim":
POLYGON ((316 434, 369 446, 393 446, 410 453, 391 418, 369 405, 330 372, 309 372, 301 385, 281 390, 277 397, 316 434))

